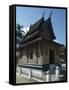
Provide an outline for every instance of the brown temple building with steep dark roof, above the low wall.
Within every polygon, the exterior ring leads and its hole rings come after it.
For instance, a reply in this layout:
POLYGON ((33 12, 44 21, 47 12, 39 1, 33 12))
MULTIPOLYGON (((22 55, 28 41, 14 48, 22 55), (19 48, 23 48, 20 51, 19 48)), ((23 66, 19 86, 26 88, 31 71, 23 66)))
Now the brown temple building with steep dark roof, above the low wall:
POLYGON ((51 15, 47 20, 42 16, 30 26, 21 41, 18 64, 59 64, 60 48, 63 45, 55 42, 55 39, 51 15))

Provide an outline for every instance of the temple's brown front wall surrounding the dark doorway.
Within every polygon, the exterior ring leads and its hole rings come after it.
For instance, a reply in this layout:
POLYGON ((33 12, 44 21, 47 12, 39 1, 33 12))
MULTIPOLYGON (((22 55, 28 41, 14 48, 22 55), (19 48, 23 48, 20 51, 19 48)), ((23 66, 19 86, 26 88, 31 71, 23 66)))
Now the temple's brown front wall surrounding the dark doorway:
POLYGON ((60 63, 60 58, 59 58, 59 47, 53 44, 50 44, 48 42, 43 42, 42 44, 42 56, 43 56, 43 64, 49 64, 49 53, 50 50, 54 50, 54 55, 55 55, 55 61, 54 63, 60 63))

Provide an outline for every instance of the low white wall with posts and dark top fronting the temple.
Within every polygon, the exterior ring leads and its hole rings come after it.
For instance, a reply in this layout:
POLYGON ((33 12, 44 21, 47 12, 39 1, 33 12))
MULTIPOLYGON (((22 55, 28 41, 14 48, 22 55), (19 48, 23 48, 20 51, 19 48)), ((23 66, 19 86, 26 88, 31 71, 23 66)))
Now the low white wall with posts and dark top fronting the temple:
POLYGON ((17 72, 21 76, 36 81, 59 81, 60 65, 17 65, 17 72))

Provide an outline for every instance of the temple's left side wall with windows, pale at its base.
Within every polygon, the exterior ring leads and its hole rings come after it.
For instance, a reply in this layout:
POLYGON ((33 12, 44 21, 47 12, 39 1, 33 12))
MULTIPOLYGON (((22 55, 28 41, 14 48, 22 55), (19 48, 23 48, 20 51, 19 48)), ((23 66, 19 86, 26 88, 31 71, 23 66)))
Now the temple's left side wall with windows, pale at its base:
POLYGON ((19 64, 42 64, 41 47, 39 44, 27 48, 21 51, 22 57, 19 60, 19 64))

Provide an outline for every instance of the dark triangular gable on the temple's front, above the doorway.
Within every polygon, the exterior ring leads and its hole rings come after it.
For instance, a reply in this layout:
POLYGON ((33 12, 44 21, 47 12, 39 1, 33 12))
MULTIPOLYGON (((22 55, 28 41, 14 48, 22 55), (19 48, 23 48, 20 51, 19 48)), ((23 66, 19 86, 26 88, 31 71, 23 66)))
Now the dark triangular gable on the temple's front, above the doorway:
POLYGON ((43 24, 41 28, 41 36, 47 40, 54 40, 56 38, 53 32, 51 18, 48 18, 48 20, 43 24))

